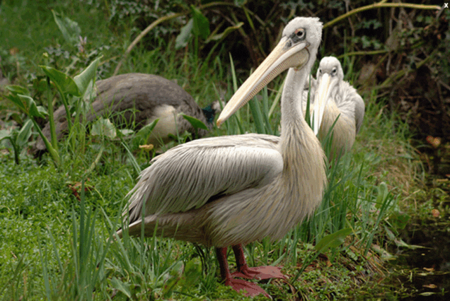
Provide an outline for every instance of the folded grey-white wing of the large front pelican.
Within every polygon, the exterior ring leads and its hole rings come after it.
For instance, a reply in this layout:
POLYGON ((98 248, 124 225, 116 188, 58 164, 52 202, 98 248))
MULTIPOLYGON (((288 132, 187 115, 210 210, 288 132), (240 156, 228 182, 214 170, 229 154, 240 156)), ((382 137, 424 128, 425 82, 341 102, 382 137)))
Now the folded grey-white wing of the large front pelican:
POLYGON ((282 172, 279 138, 246 134, 204 138, 158 155, 129 199, 129 220, 185 212, 244 189, 262 187, 282 172))

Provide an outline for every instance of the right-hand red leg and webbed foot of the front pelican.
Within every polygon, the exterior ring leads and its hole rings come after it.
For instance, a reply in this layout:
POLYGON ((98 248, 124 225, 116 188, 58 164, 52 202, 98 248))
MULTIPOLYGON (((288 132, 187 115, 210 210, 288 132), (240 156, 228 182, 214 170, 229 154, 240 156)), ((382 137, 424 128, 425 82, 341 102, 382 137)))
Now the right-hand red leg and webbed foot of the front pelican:
POLYGON ((241 244, 236 244, 233 246, 234 256, 236 256, 236 265, 238 266, 238 271, 231 274, 233 277, 241 277, 247 279, 271 279, 271 278, 282 278, 287 277, 281 272, 281 268, 278 266, 256 266, 254 268, 249 268, 246 262, 246 258, 243 254, 243 249, 241 244))

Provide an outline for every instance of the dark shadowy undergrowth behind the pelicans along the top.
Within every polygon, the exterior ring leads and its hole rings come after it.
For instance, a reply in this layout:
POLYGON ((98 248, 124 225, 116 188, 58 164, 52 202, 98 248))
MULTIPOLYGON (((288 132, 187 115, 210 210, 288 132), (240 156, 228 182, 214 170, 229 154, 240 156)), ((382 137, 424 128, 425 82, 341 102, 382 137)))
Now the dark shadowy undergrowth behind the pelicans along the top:
MULTIPOLYGON (((444 4, 442 1, 411 2, 444 4)), ((393 3, 398 4, 400 1, 393 3)), ((171 49, 179 61, 183 61, 185 55, 194 53, 202 68, 211 68, 209 63, 218 57, 223 68, 229 70, 231 54, 241 80, 275 46, 284 25, 292 17, 316 16, 325 24, 318 59, 329 55, 338 57, 345 73, 351 74, 346 79, 362 94, 376 93, 378 101, 386 102, 390 112, 400 114, 410 124, 420 143, 427 145, 427 137, 437 137, 442 139, 442 146, 446 145, 450 141, 450 9, 376 8, 359 11, 333 25, 327 24, 349 11, 371 4, 374 2, 368 0, 79 0, 79 5, 87 12, 86 18, 90 8, 103 9, 105 18, 109 18, 110 30, 117 35, 131 32, 131 39, 155 20, 172 13, 181 13, 182 16, 156 25, 139 40, 139 46, 148 52, 171 49), (192 18, 192 7, 200 8, 209 21, 211 36, 223 33, 226 28, 241 22, 243 25, 237 30, 231 30, 221 40, 194 37, 186 47, 175 49, 175 39, 192 18)), ((42 9, 49 8, 52 8, 52 4, 42 4, 42 9)), ((79 47, 83 47, 82 44, 81 41, 79 47)), ((115 45, 105 41, 104 47, 108 49, 115 45)), ((46 50, 50 55, 48 63, 56 68, 59 67, 59 59, 69 58, 67 49, 47 47, 46 50)), ((79 62, 86 66, 101 50, 95 49, 89 53, 80 51, 79 62)), ((15 64, 8 64, 8 58, 11 59, 13 52, 1 47, 0 51, 0 70, 4 74, 14 73, 15 64)), ((119 49, 118 52, 121 55, 123 50, 119 49)), ((100 66, 100 77, 112 75, 120 55, 105 57, 105 64, 100 66)), ((20 59, 20 56, 15 59, 20 59)), ((61 65, 67 66, 67 62, 61 65)), ((76 69, 76 64, 66 67, 69 71, 70 68, 76 69)), ((119 73, 127 71, 129 69, 123 67, 118 70, 119 73)), ((28 79, 33 80, 33 74, 28 79)), ((435 152, 429 145, 422 151, 435 152)), ((444 153, 448 154, 449 150, 444 153)))

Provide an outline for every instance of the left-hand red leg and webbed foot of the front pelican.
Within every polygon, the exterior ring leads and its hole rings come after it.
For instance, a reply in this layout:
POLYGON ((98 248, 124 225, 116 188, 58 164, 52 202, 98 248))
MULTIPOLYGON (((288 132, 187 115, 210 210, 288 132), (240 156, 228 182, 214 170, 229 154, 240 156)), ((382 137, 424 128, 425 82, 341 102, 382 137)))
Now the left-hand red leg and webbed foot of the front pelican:
POLYGON ((228 267, 228 261, 226 259, 226 249, 226 247, 216 248, 217 261, 219 261, 220 276, 224 281, 224 284, 231 286, 231 288, 233 288, 233 290, 236 290, 236 292, 238 293, 240 290, 245 290, 246 296, 253 297, 255 295, 263 294, 269 299, 272 299, 272 297, 270 297, 270 295, 267 294, 265 290, 260 288, 260 286, 256 283, 251 283, 242 279, 234 279, 231 276, 228 267))

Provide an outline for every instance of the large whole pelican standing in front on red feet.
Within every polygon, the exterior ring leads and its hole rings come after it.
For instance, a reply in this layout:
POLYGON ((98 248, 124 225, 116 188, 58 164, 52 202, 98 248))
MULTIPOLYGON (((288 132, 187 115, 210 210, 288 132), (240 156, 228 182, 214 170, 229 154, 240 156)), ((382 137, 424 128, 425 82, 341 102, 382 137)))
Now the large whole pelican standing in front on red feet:
MULTIPOLYGON (((281 268, 246 263, 242 245, 278 240, 311 216, 326 184, 321 143, 301 110, 303 88, 316 60, 322 23, 297 17, 270 55, 221 112, 222 124, 267 83, 289 69, 282 92, 282 136, 244 134, 202 138, 158 155, 142 171, 124 211, 129 235, 163 235, 216 248, 221 278, 236 291, 270 297, 240 278, 285 278, 281 268), (176 187, 176 188, 175 188, 176 187), (128 225, 127 225, 128 223, 128 225), (237 271, 229 271, 231 246, 237 271)), ((122 229, 117 235, 122 237, 122 229)))

